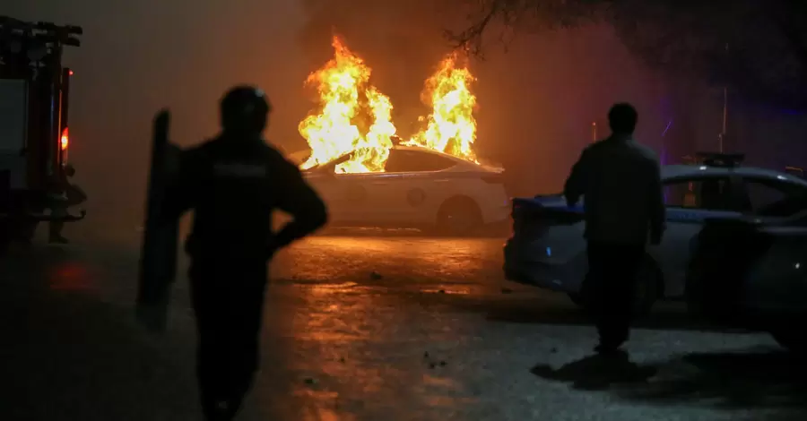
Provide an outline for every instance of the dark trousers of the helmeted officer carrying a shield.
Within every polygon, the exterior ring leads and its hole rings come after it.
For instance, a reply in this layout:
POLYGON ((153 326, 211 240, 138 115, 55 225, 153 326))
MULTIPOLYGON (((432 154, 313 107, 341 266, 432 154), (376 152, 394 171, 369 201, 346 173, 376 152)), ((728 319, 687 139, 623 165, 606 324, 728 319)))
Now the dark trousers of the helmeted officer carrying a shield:
POLYGON ((202 408, 209 421, 230 420, 258 367, 266 261, 195 259, 189 275, 202 408))

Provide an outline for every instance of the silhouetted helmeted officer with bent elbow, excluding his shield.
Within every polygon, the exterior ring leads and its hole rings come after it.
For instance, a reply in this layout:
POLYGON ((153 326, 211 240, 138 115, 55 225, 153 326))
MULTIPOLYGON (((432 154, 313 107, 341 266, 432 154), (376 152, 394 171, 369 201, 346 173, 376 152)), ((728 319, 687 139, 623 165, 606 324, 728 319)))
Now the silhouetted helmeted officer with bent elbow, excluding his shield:
POLYGON ((195 211, 186 250, 198 327, 198 380, 208 420, 230 420, 258 365, 258 340, 273 253, 325 225, 325 204, 299 169, 266 144, 271 109, 264 93, 230 90, 221 100, 223 130, 182 152, 167 216, 195 211), (273 233, 271 215, 292 221, 273 233))

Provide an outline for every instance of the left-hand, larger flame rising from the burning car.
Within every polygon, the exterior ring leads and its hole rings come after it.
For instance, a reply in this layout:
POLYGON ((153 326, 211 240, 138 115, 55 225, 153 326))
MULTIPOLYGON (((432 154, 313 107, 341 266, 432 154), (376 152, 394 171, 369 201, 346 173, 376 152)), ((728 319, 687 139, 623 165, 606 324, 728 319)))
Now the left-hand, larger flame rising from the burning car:
POLYGON ((337 173, 384 171, 395 125, 392 102, 369 84, 371 70, 343 42, 334 37, 334 58, 308 75, 316 84, 319 110, 299 124, 308 141, 306 169, 337 159, 355 150, 350 160, 336 166, 337 173))

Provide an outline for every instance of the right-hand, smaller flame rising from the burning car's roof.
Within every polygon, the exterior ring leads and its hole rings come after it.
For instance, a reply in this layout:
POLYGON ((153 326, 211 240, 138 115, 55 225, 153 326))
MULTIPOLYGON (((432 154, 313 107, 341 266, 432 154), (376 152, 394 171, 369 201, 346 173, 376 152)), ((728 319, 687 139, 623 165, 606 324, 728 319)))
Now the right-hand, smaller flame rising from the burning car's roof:
POLYGON ((426 128, 412 136, 407 144, 477 162, 473 152, 476 97, 470 90, 476 79, 467 67, 457 66, 456 62, 456 54, 447 56, 440 62, 438 71, 426 81, 421 98, 432 108, 431 115, 421 117, 427 122, 426 128))

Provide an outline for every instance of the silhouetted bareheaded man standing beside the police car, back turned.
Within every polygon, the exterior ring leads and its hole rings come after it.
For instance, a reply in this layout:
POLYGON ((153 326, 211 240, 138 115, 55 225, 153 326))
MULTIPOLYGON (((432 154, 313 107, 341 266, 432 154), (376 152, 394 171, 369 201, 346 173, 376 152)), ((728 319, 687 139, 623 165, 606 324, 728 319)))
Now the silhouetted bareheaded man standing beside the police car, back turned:
POLYGON ((638 269, 648 240, 664 233, 664 191, 658 157, 633 139, 638 115, 629 104, 608 113, 612 134, 588 146, 568 176, 569 206, 583 196, 589 278, 594 282, 598 352, 629 339, 638 269))

